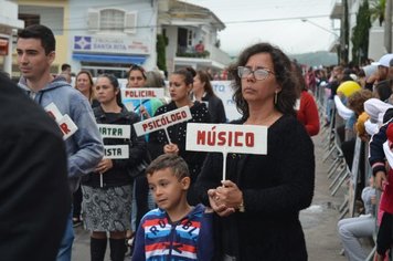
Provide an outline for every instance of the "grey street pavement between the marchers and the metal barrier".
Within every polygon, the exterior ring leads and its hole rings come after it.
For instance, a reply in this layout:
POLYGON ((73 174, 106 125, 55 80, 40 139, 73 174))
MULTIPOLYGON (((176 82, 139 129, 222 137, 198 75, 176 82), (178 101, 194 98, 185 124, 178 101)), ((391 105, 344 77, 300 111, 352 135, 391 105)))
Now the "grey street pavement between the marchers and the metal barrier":
MULTIPOLYGON (((330 196, 329 184, 331 180, 328 179, 327 171, 331 161, 322 163, 321 135, 314 137, 312 140, 316 155, 315 196, 311 206, 300 212, 309 260, 344 261, 347 260, 346 257, 340 254, 341 244, 338 238, 337 222, 340 216, 338 208, 343 201, 346 188, 342 187, 334 197, 330 196)), ((370 249, 370 246, 365 247, 370 249)), ((75 228, 72 260, 89 260, 89 234, 82 227, 75 228)), ((109 249, 107 249, 105 261, 109 260, 109 249)), ((127 257, 126 260, 128 261, 130 258, 127 257)))

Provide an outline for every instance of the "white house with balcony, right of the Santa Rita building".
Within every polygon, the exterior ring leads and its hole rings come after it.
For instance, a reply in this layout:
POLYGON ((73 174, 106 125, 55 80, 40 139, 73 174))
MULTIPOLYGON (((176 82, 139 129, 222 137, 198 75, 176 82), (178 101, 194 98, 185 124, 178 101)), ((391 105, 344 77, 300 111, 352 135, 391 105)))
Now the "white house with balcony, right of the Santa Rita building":
POLYGON ((184 66, 221 71, 231 63, 230 55, 220 49, 217 36, 225 24, 209 9, 178 0, 160 0, 158 24, 158 33, 168 40, 169 73, 184 66), (203 54, 195 52, 200 41, 208 51, 203 54))

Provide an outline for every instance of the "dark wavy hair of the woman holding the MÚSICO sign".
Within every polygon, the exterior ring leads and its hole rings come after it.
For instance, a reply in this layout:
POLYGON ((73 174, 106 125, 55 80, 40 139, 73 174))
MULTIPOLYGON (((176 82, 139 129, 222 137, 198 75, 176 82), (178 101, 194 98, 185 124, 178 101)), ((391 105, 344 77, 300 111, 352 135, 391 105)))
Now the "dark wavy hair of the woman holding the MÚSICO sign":
POLYGON ((257 43, 245 49, 240 54, 237 62, 232 64, 229 69, 229 74, 234 80, 232 83, 234 90, 233 100, 236 103, 237 111, 243 114, 243 119, 248 118, 248 103, 242 95, 242 79, 237 74, 237 67, 244 66, 251 56, 258 53, 270 54, 276 81, 282 86, 282 91, 277 95, 275 107, 283 114, 295 116, 296 112, 294 107, 298 95, 296 92, 296 80, 293 74, 290 60, 282 50, 269 43, 257 43))

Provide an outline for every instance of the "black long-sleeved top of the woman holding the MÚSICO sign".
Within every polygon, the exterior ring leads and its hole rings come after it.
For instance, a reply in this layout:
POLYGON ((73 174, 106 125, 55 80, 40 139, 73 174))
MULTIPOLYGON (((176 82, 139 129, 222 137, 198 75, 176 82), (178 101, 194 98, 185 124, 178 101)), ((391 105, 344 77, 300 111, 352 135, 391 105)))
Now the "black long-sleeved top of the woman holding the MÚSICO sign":
MULTIPOLYGON (((307 260, 299 211, 312 200, 315 156, 305 127, 283 116, 268 128, 267 155, 229 154, 226 160, 227 179, 242 190, 245 212, 216 219, 219 255, 307 260)), ((208 155, 195 184, 202 203, 209 205, 209 189, 221 186, 222 165, 222 154, 208 155)))

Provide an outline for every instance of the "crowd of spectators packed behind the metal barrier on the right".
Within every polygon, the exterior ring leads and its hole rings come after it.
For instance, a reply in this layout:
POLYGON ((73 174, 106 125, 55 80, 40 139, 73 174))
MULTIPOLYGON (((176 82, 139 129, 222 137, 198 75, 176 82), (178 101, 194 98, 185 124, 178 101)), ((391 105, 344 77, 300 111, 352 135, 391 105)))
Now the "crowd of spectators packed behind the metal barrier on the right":
POLYGON ((361 238, 376 237, 375 260, 387 260, 393 242, 393 161, 389 161, 393 155, 392 65, 393 54, 387 53, 363 66, 348 64, 311 69, 306 77, 309 88, 325 101, 325 127, 337 133, 348 168, 351 170, 355 160, 359 164, 354 197, 364 207, 360 216, 354 213, 354 217, 338 222, 344 254, 351 261, 365 260, 369 254, 361 247, 361 238), (357 138, 362 140, 365 149, 360 149, 360 155, 354 156, 357 138), (364 163, 364 156, 369 163, 364 163), (365 171, 365 165, 370 166, 370 173, 365 171), (380 200, 375 199, 375 189, 382 192, 380 200))

